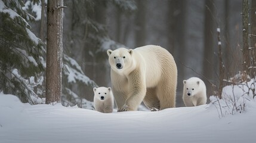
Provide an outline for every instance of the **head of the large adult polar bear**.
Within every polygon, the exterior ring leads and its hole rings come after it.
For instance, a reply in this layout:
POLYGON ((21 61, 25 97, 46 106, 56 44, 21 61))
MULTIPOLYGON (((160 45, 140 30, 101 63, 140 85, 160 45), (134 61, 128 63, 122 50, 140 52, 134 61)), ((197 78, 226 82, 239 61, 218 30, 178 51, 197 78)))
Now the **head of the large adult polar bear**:
POLYGON ((116 72, 122 72, 123 70, 131 70, 133 64, 132 59, 133 50, 126 48, 118 48, 112 51, 107 50, 107 55, 109 55, 109 64, 113 70, 116 72))

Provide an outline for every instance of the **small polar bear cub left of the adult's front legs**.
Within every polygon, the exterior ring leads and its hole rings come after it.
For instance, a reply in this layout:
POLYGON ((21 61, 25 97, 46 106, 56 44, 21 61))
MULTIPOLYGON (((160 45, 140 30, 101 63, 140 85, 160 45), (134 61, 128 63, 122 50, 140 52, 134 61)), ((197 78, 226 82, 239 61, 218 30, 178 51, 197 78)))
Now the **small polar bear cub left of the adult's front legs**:
POLYGON ((94 108, 102 113, 112 113, 114 108, 114 97, 111 88, 100 87, 93 88, 94 108))

